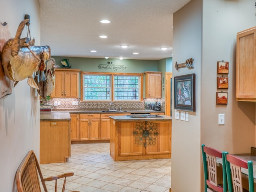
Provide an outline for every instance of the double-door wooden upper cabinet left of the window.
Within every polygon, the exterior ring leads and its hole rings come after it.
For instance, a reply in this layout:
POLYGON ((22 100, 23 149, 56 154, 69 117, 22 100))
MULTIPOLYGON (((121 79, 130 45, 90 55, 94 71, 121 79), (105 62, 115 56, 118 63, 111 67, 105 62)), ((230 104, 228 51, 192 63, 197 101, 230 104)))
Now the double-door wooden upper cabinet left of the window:
POLYGON ((78 98, 78 69, 56 69, 52 98, 78 98))

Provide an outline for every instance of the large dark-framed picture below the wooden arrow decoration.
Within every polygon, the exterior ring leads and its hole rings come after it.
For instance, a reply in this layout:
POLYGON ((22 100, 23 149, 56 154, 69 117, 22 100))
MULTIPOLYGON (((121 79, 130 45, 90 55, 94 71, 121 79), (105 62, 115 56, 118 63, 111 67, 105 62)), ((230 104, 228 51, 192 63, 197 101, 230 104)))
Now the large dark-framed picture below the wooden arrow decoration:
POLYGON ((174 108, 196 111, 196 75, 188 74, 174 77, 174 108))

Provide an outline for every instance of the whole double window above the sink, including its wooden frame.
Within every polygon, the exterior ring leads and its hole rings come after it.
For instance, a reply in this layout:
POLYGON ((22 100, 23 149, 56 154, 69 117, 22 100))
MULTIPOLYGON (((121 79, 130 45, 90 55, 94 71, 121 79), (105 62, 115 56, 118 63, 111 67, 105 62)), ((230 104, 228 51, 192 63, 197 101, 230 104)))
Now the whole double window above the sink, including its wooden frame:
POLYGON ((141 101, 143 74, 81 73, 81 101, 141 101))

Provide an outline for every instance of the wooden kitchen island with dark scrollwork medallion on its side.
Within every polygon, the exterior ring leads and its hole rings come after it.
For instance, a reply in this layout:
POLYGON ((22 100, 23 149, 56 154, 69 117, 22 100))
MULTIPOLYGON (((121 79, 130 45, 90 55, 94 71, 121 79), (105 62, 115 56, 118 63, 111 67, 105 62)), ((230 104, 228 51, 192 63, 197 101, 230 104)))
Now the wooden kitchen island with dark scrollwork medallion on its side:
POLYGON ((109 117, 114 161, 171 158, 171 116, 109 117))

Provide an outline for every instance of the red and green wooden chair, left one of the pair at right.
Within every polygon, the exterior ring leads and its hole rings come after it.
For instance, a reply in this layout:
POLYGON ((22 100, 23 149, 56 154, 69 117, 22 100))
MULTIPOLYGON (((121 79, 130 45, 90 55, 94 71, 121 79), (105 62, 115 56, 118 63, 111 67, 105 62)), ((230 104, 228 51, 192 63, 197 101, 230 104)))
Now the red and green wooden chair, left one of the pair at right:
POLYGON ((202 144, 202 156, 204 166, 204 190, 205 192, 227 192, 226 164, 224 152, 202 144), (222 158, 223 184, 218 184, 216 157, 222 158))

